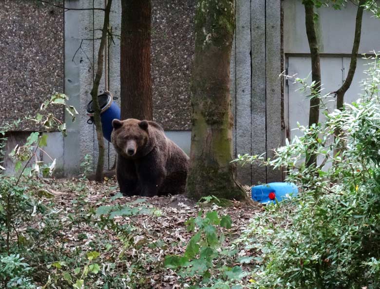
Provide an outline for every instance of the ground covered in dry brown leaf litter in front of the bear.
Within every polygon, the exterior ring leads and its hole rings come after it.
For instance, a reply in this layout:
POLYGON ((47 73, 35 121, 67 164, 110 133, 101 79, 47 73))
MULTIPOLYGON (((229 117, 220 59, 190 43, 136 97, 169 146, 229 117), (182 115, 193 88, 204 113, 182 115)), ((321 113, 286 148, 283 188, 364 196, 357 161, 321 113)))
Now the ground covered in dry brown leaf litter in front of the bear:
MULTIPOLYGON (((178 276, 172 270, 163 268, 163 260, 166 255, 183 254, 186 250, 193 232, 187 231, 186 221, 191 217, 196 217, 198 212, 203 209, 205 212, 214 210, 219 215, 230 215, 232 228, 225 231, 226 241, 224 246, 227 248, 236 240, 241 232, 247 229, 249 220, 263 212, 262 205, 253 201, 237 202, 231 201, 228 207, 220 207, 212 202, 208 205, 198 205, 184 195, 155 196, 143 198, 117 197, 118 186, 114 178, 106 179, 103 184, 98 184, 89 180, 45 180, 43 194, 49 194, 53 198, 55 207, 64 215, 76 214, 73 204, 78 204, 78 199, 84 206, 96 210, 100 206, 128 205, 139 207, 144 204, 153 213, 138 214, 133 216, 115 216, 115 220, 120 224, 133 226, 133 246, 125 249, 122 241, 112 230, 100 230, 96 226, 91 226, 85 222, 72 226, 71 230, 62 230, 65 236, 64 247, 67 250, 74 250, 80 247, 81 250, 90 250, 89 244, 98 239, 105 238, 112 244, 113 250, 105 253, 106 258, 114 260, 120 254, 126 256, 124 262, 126 270, 130 265, 135 264, 136 260, 141 259, 142 268, 139 272, 141 280, 145 280, 137 288, 152 289, 175 289, 183 288, 178 282, 178 276), (115 198, 115 196, 117 198, 115 198), (108 255, 108 257, 107 257, 108 255), (129 260, 129 261, 128 261, 129 260)), ((245 187, 249 197, 249 187, 245 187)), ((79 212, 80 213, 80 212, 79 212)), ((64 219, 65 217, 63 217, 64 219)), ((70 218, 66 218, 69 222, 70 218)), ((60 246, 61 244, 57 244, 60 246)), ((250 255, 252 252, 242 250, 239 255, 250 255)), ((237 265, 237 264, 234 264, 237 265)), ((250 264, 252 265, 252 264, 250 264)), ((250 266, 245 264, 244 266, 250 266)), ((249 279, 249 276, 247 276, 249 279)), ((128 280, 127 280, 128 281, 128 280)), ((247 281, 247 280, 246 280, 247 281)), ((128 288, 128 287, 127 287, 128 288)))

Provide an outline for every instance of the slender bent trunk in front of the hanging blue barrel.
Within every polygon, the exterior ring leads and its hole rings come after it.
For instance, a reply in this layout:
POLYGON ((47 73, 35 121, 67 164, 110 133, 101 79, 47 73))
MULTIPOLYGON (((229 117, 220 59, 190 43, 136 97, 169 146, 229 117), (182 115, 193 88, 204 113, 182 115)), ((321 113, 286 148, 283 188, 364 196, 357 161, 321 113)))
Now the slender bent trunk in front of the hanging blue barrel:
POLYGON ((103 58, 104 58, 104 48, 107 42, 107 34, 108 34, 108 23, 110 20, 110 11, 111 11, 112 0, 108 0, 105 12, 104 12, 104 22, 102 28, 102 36, 100 39, 100 46, 97 54, 97 67, 96 74, 94 79, 93 88, 91 90, 91 97, 93 100, 93 109, 94 109, 94 123, 96 128, 96 138, 99 148, 99 155, 96 164, 96 172, 95 172, 95 181, 102 182, 103 181, 103 167, 104 167, 104 139, 103 139, 103 131, 102 124, 100 119, 100 106, 97 98, 98 89, 100 84, 100 79, 103 74, 103 58))

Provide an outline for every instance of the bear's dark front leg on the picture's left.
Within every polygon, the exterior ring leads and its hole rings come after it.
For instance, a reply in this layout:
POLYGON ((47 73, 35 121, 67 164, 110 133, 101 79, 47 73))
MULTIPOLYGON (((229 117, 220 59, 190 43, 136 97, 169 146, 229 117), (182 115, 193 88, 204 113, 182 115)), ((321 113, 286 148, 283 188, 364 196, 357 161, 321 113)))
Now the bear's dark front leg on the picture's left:
POLYGON ((136 167, 133 160, 117 156, 116 179, 120 187, 120 193, 124 196, 140 195, 136 167))

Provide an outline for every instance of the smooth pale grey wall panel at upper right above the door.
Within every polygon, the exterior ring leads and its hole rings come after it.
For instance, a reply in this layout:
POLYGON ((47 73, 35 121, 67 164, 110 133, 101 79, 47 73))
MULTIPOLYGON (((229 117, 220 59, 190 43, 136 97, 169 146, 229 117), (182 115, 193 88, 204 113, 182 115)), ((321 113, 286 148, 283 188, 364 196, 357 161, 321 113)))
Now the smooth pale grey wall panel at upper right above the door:
MULTIPOLYGON (((355 32, 357 6, 347 1, 347 7, 334 10, 331 7, 316 9, 320 52, 329 54, 351 54, 355 32)), ((310 53, 305 29, 304 6, 300 0, 284 1, 284 51, 285 53, 310 53)), ((380 19, 364 11, 359 53, 380 50, 380 19)))

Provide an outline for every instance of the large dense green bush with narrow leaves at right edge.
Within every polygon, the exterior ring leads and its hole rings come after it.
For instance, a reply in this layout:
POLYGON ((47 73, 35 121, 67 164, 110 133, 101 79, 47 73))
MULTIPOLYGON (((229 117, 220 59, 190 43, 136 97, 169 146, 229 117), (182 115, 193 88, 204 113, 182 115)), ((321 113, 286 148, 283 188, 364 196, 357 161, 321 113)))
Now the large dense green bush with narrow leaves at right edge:
POLYGON ((302 192, 267 206, 241 237, 257 255, 252 288, 379 288, 379 65, 376 58, 361 99, 342 111, 326 111, 323 123, 299 126, 302 136, 266 161, 285 168, 286 180, 302 192), (311 154, 318 163, 305 166, 311 154))

